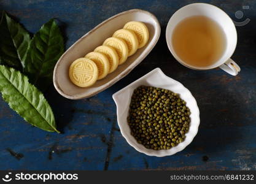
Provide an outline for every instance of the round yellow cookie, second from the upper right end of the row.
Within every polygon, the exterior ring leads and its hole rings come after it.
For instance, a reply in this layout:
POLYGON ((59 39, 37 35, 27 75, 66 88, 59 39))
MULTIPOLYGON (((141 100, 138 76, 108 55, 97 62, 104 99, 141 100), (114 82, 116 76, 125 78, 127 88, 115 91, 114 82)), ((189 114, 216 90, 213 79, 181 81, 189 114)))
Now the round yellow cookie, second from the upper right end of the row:
POLYGON ((119 29, 115 31, 113 37, 118 37, 125 40, 128 46, 128 56, 133 55, 138 50, 139 41, 134 31, 129 29, 119 29))

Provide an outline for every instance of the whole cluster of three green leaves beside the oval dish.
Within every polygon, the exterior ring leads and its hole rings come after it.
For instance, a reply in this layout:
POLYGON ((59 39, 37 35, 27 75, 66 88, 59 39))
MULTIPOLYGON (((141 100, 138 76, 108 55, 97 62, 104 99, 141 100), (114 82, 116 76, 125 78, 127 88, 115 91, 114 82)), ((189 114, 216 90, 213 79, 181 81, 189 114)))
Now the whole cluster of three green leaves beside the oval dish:
POLYGON ((52 83, 54 66, 64 52, 56 21, 45 23, 31 39, 28 31, 2 11, 0 34, 2 98, 31 125, 59 132, 52 109, 38 90, 52 83))

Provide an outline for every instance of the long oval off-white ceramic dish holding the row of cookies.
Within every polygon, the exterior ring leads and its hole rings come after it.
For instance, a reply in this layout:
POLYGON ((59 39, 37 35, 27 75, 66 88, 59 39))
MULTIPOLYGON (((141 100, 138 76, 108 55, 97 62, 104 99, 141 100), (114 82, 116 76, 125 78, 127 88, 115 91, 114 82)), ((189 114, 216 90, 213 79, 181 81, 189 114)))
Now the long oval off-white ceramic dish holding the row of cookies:
POLYGON ((69 99, 88 98, 106 90, 106 88, 114 85, 114 83, 125 77, 134 67, 141 63, 142 59, 157 44, 160 31, 161 28, 157 18, 145 10, 128 10, 108 18, 77 40, 58 60, 53 72, 53 84, 56 90, 62 96, 69 99), (93 86, 80 88, 74 85, 69 80, 68 75, 69 66, 72 61, 85 56, 86 53, 93 51, 96 47, 103 44, 105 39, 111 37, 118 29, 123 28, 128 21, 142 21, 145 23, 149 29, 149 42, 144 47, 138 49, 133 56, 128 57, 127 61, 118 66, 114 72, 107 75, 104 79, 98 80, 93 86))

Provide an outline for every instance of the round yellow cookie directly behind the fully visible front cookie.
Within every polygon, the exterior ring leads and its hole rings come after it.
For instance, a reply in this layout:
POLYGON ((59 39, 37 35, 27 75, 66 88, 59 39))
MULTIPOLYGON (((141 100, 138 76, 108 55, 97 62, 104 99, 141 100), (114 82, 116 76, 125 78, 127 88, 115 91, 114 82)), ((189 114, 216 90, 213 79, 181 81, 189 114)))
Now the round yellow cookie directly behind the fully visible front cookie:
POLYGON ((107 59, 106 55, 99 52, 90 52, 85 55, 85 58, 91 59, 91 61, 93 61, 98 67, 98 80, 106 77, 106 75, 109 73, 109 59, 107 59))

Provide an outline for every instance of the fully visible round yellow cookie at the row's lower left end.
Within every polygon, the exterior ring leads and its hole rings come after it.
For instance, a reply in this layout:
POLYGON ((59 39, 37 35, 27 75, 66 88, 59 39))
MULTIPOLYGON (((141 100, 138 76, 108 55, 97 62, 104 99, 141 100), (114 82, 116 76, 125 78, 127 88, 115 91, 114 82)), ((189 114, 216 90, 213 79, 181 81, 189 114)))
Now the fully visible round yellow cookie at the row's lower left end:
POLYGON ((72 83, 79 87, 91 86, 98 79, 98 67, 91 59, 76 59, 69 66, 69 78, 72 83))

